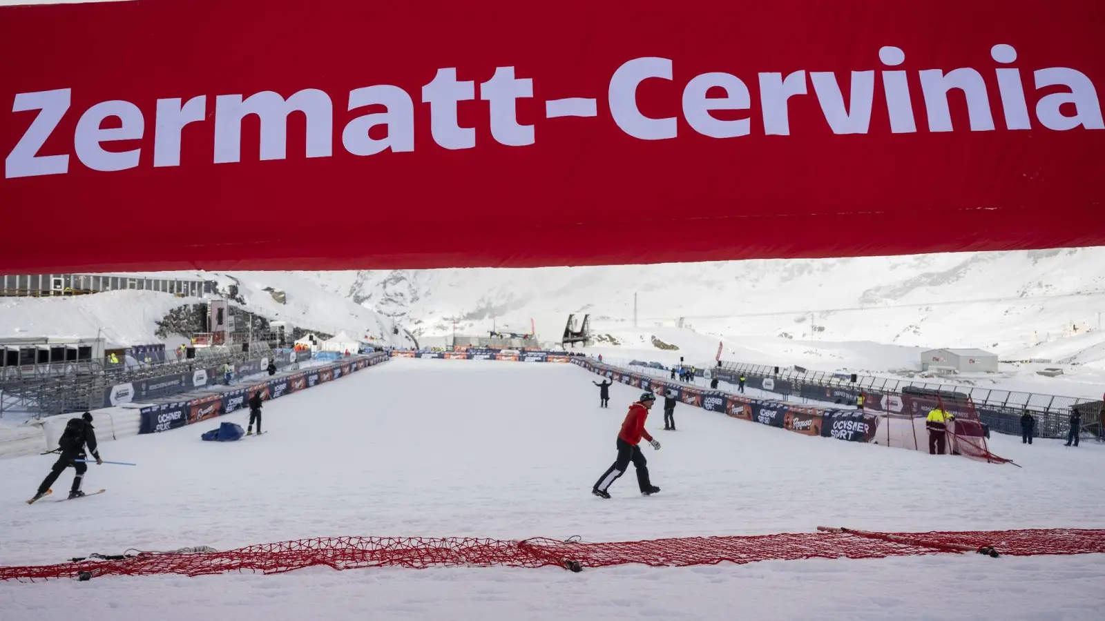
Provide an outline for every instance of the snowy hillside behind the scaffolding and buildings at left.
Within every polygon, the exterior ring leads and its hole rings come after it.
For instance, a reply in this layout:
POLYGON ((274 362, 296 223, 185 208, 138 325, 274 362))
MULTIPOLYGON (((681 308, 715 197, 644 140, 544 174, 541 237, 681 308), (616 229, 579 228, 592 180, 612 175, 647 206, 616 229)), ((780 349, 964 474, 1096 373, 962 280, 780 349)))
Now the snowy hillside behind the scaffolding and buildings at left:
MULTIPOLYGON (((236 287, 232 304, 271 320, 329 334, 346 331, 372 336, 385 344, 407 345, 396 320, 351 299, 319 288, 311 278, 291 272, 166 272, 164 277, 215 281, 221 293, 236 287), (270 291, 272 290, 272 291, 270 291), (272 295, 278 291, 284 302, 272 295)), ((0 337, 96 336, 103 331, 115 345, 157 343, 156 322, 177 306, 199 302, 149 291, 116 291, 76 297, 0 297, 0 337)), ((173 345, 173 341, 170 345, 173 345)))

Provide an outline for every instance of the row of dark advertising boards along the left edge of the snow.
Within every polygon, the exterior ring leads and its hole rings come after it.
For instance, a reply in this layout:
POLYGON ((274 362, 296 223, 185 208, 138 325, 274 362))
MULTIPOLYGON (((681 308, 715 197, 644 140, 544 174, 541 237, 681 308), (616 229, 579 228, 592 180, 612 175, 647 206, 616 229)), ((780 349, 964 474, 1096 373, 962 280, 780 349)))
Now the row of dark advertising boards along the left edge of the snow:
POLYGON ((306 390, 323 381, 344 377, 352 371, 373 367, 388 359, 386 354, 372 354, 356 360, 346 360, 329 367, 318 367, 287 377, 272 378, 225 392, 204 394, 179 402, 156 403, 139 410, 141 424, 138 433, 157 433, 193 424, 245 408, 250 396, 261 391, 265 401, 284 394, 306 390))

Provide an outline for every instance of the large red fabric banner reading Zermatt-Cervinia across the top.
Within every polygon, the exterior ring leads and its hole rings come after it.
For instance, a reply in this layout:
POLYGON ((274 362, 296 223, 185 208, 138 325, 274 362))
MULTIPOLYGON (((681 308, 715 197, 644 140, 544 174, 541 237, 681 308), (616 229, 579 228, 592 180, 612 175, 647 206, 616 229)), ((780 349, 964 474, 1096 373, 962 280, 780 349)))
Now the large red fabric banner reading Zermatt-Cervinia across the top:
POLYGON ((1105 244, 1102 24, 1099 0, 6 7, 0 269, 1105 244))

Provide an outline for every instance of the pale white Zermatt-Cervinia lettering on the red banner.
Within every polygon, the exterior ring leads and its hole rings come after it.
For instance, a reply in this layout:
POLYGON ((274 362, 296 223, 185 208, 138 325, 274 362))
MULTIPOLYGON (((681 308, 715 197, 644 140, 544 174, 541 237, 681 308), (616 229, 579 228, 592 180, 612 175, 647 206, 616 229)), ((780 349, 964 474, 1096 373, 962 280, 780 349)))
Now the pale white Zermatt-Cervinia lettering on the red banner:
MULTIPOLYGON (((992 71, 998 86, 998 102, 1004 118, 1004 129, 1032 129, 1032 118, 1021 70, 1008 66, 1017 60, 1017 50, 1008 44, 997 44, 990 50, 996 63, 992 71)), ((878 50, 878 61, 884 67, 897 67, 905 63, 905 52, 891 45, 878 50)), ((639 105, 638 91, 648 81, 673 82, 674 61, 659 56, 632 59, 619 66, 611 75, 607 98, 610 116, 627 135, 641 140, 666 140, 676 138, 678 118, 667 116, 651 118, 639 105)), ((1028 70, 1025 70, 1028 71, 1028 70)), ((992 131, 996 129, 993 110, 989 98, 987 80, 989 70, 957 67, 915 70, 922 87, 922 99, 926 110, 928 130, 940 131, 992 131), (949 93, 959 91, 966 97, 969 128, 953 125, 949 93)), ((874 106, 875 82, 881 80, 885 93, 886 113, 892 134, 917 131, 914 97, 909 92, 909 72, 884 69, 841 72, 807 72, 796 70, 782 73, 757 73, 748 78, 759 85, 759 115, 764 134, 790 136, 791 99, 808 97, 809 85, 813 86, 821 114, 833 134, 870 134, 872 108, 874 106), (848 105, 844 104, 842 78, 850 82, 848 105)), ((1035 102, 1038 128, 1066 131, 1076 127, 1105 129, 1101 101, 1094 83, 1084 73, 1071 67, 1046 67, 1032 71, 1035 92, 1046 92, 1035 102), (1061 87, 1054 92, 1055 87, 1061 87)), ((516 67, 496 66, 494 73, 480 84, 480 99, 488 102, 488 126, 492 138, 502 145, 524 147, 536 144, 534 125, 518 123, 519 101, 533 99, 533 77, 517 77, 516 67)), ((414 150, 414 104, 403 88, 390 84, 377 84, 354 88, 348 95, 329 94, 318 88, 303 88, 286 98, 275 91, 260 91, 249 96, 224 94, 214 96, 213 114, 208 114, 208 96, 197 95, 185 102, 181 97, 167 97, 154 102, 128 102, 110 99, 91 105, 81 112, 71 144, 77 159, 87 168, 110 172, 126 170, 144 164, 139 157, 144 141, 150 139, 145 131, 147 118, 152 114, 154 157, 152 167, 181 166, 181 151, 188 148, 181 138, 188 125, 201 127, 189 129, 213 134, 214 149, 212 164, 241 161, 242 123, 250 115, 260 119, 259 158, 280 160, 287 157, 287 122, 293 112, 306 118, 306 148, 308 158, 334 156, 334 101, 345 101, 349 112, 372 107, 385 112, 366 114, 349 120, 341 130, 341 145, 346 152, 355 156, 372 156, 386 150, 408 152, 414 150), (152 105, 150 113, 143 112, 144 105, 152 105), (209 120, 213 116, 213 120, 209 120), (103 128, 104 119, 115 117, 118 127, 103 128), (387 127, 386 137, 373 138, 370 130, 387 127), (130 141, 133 148, 103 148, 106 141, 130 141)), ((433 141, 445 149, 471 149, 476 146, 476 129, 459 125, 457 107, 461 102, 476 98, 476 83, 459 80, 457 67, 436 70, 433 80, 422 87, 422 103, 430 107, 430 135, 433 141)), ((39 155, 53 133, 69 114, 72 101, 71 88, 38 91, 15 94, 12 113, 39 110, 24 130, 20 140, 4 160, 4 177, 33 177, 40 175, 64 175, 70 171, 67 152, 39 155)), ((598 116, 596 99, 590 97, 560 97, 547 99, 546 118, 594 117, 598 116)), ((748 136, 753 128, 753 101, 745 80, 723 72, 703 73, 692 76, 682 88, 678 102, 683 117, 694 131, 716 139, 732 139, 748 136), (708 93, 724 92, 720 97, 708 97, 708 93), (748 110, 739 118, 720 119, 713 110, 748 110)), ((875 115, 878 118, 881 115, 875 115)), ((960 124, 962 125, 962 124, 960 124)), ((54 144, 66 144, 65 139, 54 144)), ((52 147, 57 148, 57 147, 52 147)), ((188 158, 188 161, 199 161, 188 158)), ((196 166, 189 164, 189 166, 196 166)))

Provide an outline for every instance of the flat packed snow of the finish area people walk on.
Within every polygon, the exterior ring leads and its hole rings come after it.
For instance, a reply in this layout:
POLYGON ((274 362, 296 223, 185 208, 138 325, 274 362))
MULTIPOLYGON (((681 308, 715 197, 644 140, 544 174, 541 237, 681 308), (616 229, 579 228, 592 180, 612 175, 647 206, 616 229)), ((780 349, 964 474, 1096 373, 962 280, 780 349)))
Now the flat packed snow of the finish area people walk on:
MULTIPOLYGON (((3 565, 127 548, 318 536, 534 536, 633 540, 810 531, 1102 527, 1103 448, 996 436, 1023 467, 808 438, 680 406, 678 431, 648 428, 659 495, 614 459, 625 408, 573 365, 392 360, 266 404, 270 433, 201 442, 220 421, 104 442, 94 498, 27 506, 52 456, 2 462, 3 565)), ((248 413, 222 420, 244 427, 248 413)), ((55 484, 64 493, 66 472, 55 484)), ((57 497, 57 496, 54 496, 57 497)), ((286 576, 101 578, 0 585, 4 619, 1101 619, 1103 555, 941 555, 693 568, 311 569, 286 576), (937 586, 939 597, 933 597, 937 586), (80 604, 75 602, 80 602, 80 604)))

